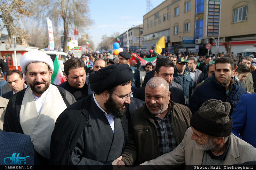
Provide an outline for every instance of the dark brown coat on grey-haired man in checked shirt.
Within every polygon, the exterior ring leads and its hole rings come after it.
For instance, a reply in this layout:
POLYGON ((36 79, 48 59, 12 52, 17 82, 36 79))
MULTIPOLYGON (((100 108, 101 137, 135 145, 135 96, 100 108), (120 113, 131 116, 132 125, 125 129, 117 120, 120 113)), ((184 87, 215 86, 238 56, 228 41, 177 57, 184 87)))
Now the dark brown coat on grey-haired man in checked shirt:
MULTIPOLYGON (((187 106, 174 103, 171 100, 170 103, 172 106, 172 127, 177 145, 179 145, 186 130, 190 127, 189 121, 192 113, 187 106)), ((122 153, 122 160, 126 165, 136 166, 160 155, 156 126, 146 104, 132 112, 131 119, 129 142, 122 153)))

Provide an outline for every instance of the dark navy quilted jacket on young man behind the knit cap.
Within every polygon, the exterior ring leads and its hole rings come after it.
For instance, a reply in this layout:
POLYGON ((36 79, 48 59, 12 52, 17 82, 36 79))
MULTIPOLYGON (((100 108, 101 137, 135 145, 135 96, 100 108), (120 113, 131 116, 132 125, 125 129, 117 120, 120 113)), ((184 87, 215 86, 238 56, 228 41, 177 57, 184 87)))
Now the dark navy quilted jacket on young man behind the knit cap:
POLYGON ((231 91, 227 98, 226 86, 217 83, 214 78, 210 82, 195 89, 194 94, 189 99, 188 107, 192 114, 194 114, 207 100, 217 99, 230 103, 231 109, 229 115, 231 115, 242 94, 247 94, 246 90, 234 84, 234 81, 231 79, 231 91))

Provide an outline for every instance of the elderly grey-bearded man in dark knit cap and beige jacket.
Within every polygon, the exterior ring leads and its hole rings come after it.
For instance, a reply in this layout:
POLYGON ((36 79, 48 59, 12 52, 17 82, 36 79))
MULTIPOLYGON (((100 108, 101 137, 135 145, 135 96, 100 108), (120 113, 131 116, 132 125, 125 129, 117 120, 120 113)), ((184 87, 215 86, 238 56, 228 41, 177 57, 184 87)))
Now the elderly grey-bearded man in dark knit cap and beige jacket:
POLYGON ((256 160, 256 149, 231 133, 230 108, 220 100, 204 102, 191 117, 181 144, 141 165, 233 165, 256 160))

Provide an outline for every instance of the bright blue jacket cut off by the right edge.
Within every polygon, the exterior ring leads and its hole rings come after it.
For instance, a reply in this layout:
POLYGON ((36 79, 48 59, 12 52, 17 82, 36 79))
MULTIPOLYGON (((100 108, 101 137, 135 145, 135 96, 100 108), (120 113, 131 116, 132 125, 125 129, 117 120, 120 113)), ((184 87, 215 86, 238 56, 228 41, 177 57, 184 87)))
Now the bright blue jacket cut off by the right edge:
POLYGON ((232 133, 254 147, 256 147, 255 101, 256 93, 242 95, 231 115, 233 118, 232 133))

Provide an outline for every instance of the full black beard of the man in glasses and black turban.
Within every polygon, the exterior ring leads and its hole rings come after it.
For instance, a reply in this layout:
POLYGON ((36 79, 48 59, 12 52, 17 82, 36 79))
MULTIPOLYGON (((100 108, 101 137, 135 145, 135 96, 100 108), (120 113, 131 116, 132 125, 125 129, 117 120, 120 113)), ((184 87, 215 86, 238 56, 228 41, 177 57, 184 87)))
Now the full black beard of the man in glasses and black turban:
POLYGON ((117 107, 115 101, 112 98, 112 95, 110 95, 107 102, 104 103, 106 110, 116 118, 121 118, 124 116, 127 106, 127 103, 123 103, 121 106, 117 107), (122 108, 123 106, 125 106, 125 108, 122 108))

